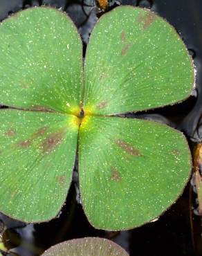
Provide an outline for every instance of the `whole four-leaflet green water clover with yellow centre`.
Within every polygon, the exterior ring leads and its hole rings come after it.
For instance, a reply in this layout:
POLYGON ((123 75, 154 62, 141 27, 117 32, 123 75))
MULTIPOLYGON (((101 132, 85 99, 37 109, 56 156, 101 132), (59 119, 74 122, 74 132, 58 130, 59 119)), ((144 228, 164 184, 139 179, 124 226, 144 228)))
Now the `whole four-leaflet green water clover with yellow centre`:
POLYGON ((150 10, 119 7, 95 25, 82 58, 71 19, 30 8, 1 23, 0 210, 26 222, 62 208, 78 154, 84 212, 95 228, 158 217, 190 176, 180 132, 117 115, 190 95, 194 68, 181 38, 150 10))

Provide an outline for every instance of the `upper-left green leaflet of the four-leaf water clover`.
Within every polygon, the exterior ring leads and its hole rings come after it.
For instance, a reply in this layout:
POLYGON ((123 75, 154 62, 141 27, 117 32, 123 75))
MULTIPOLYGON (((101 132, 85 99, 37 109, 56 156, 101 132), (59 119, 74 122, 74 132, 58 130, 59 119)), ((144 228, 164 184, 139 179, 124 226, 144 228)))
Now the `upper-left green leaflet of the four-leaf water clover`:
POLYGON ((72 113, 82 93, 82 42, 71 19, 30 8, 0 26, 0 104, 72 113))

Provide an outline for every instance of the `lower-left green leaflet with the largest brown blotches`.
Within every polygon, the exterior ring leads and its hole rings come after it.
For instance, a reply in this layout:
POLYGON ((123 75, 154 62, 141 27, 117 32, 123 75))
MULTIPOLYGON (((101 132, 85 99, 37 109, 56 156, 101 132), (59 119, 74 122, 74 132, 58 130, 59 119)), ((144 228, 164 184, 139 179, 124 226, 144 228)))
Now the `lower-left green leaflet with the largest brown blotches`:
POLYGON ((53 219, 66 199, 77 147, 77 118, 0 111, 1 211, 26 222, 53 219))

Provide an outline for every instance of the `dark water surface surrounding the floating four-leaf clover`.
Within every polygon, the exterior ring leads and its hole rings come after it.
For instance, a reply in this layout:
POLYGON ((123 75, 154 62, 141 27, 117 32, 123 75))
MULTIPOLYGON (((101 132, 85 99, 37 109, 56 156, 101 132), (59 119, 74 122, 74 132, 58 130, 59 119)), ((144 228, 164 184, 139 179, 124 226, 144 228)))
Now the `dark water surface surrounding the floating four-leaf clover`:
MULTIPOLYGON (((98 12, 95 6, 85 6, 84 3, 90 3, 90 1, 0 0, 0 20, 30 6, 50 4, 62 8, 75 22, 82 35, 85 50, 91 30, 102 12, 98 12)), ((120 1, 111 1, 111 8, 119 4, 120 1)), ((192 149, 193 140, 199 142, 202 138, 202 1, 122 0, 122 4, 152 8, 154 12, 167 19, 181 35, 194 58, 196 89, 190 98, 174 106, 136 115, 138 118, 165 122, 180 129, 187 136, 192 149)), ((129 113, 127 116, 134 118, 135 115, 129 113)), ((77 181, 76 167, 74 181, 77 181)), ((4 243, 10 249, 8 255, 40 255, 46 248, 60 241, 88 236, 112 239, 124 247, 131 256, 202 255, 201 219, 195 214, 197 213, 196 195, 192 191, 190 183, 181 198, 158 220, 134 230, 121 232, 95 230, 89 224, 77 198, 75 183, 73 182, 71 185, 62 212, 56 219, 48 223, 25 225, 0 214, 0 233, 3 235, 4 243)))

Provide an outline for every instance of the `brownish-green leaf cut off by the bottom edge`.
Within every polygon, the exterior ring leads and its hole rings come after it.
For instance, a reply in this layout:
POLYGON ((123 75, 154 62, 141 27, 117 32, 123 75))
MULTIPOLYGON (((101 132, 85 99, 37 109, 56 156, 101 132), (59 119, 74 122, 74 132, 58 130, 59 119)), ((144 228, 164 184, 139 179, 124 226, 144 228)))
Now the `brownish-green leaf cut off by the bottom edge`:
POLYGON ((64 241, 46 250, 43 256, 129 256, 118 244, 108 239, 86 237, 64 241))

